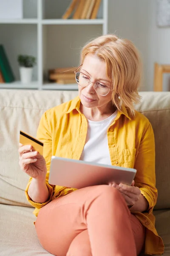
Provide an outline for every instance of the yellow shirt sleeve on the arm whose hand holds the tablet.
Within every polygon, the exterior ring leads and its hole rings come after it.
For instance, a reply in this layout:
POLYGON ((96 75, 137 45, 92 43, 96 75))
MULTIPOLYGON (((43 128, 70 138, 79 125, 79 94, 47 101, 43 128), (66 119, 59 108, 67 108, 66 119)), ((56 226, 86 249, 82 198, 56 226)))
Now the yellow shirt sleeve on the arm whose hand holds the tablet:
POLYGON ((134 168, 137 170, 135 186, 139 187, 141 194, 147 199, 149 203, 147 211, 150 212, 158 196, 155 174, 155 139, 150 122, 142 134, 134 168))

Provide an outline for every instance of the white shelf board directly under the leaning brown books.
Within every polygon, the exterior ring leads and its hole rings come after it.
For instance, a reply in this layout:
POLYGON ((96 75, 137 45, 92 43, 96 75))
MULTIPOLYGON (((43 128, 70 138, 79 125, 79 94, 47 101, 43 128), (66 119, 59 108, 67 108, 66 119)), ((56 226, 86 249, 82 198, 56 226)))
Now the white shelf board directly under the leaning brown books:
POLYGON ((77 25, 87 25, 87 24, 104 24, 104 20, 103 19, 79 19, 79 20, 74 20, 74 19, 56 19, 56 20, 42 20, 41 21, 42 24, 44 25, 50 25, 50 24, 58 24, 58 25, 73 25, 73 24, 77 24, 77 25))

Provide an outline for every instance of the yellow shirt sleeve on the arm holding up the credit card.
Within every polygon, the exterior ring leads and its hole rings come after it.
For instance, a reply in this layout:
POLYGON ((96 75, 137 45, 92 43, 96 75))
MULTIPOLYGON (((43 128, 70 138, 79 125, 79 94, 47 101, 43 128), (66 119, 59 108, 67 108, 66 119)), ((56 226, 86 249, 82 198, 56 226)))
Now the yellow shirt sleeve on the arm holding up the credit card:
POLYGON ((48 202, 51 201, 51 198, 53 196, 53 191, 54 191, 54 185, 50 185, 48 183, 48 177, 49 177, 49 172, 50 172, 50 164, 51 164, 51 155, 52 155, 52 139, 51 139, 51 128, 50 125, 48 124, 47 120, 47 113, 45 112, 41 119, 40 119, 40 124, 37 129, 37 139, 41 140, 44 145, 43 145, 43 157, 45 158, 46 166, 47 166, 47 174, 46 174, 46 186, 49 191, 49 198, 48 201, 44 203, 36 203, 31 200, 31 198, 28 195, 28 188, 31 183, 32 177, 30 177, 28 184, 26 186, 25 194, 28 202, 35 208, 40 209, 43 207, 45 204, 48 204, 48 202))

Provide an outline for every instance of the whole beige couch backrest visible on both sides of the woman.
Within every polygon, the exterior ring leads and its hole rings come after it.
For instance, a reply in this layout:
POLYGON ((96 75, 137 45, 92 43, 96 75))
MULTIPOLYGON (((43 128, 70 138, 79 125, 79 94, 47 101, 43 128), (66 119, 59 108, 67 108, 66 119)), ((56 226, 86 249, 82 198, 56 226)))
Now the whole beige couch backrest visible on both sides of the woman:
MULTIPOLYGON (((20 130, 36 136, 45 110, 73 99, 77 91, 0 90, 0 203, 30 206, 24 190, 28 175, 20 170, 20 130)), ((156 140, 156 209, 170 208, 170 92, 141 92, 136 109, 150 120, 156 140)))

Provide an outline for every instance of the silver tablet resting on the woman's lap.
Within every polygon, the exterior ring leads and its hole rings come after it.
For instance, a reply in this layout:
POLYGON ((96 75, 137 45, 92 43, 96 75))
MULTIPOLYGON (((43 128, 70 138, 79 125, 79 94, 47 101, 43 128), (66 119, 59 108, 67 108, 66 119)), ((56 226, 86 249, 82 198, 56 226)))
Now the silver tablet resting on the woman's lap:
POLYGON ((135 175, 136 169, 52 156, 48 182, 75 189, 110 182, 131 185, 135 175))

